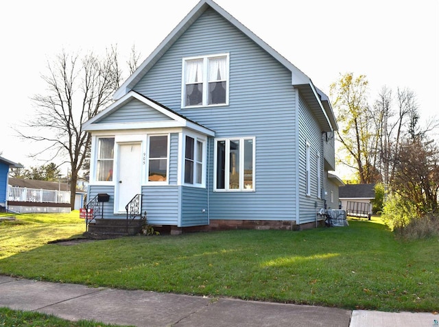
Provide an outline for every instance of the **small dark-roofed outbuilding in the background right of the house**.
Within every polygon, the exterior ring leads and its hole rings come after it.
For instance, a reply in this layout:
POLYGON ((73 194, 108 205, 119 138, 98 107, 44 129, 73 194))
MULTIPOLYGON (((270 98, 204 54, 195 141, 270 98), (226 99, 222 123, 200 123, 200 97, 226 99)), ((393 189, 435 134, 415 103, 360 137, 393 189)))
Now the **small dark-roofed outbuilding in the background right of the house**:
MULTIPOLYGON (((372 201, 375 199, 375 184, 346 184, 339 189, 342 209, 355 214, 355 211, 364 211, 367 208, 372 214, 372 201), (366 204, 365 206, 361 204, 366 204)), ((366 213, 367 214, 367 213, 366 213)))

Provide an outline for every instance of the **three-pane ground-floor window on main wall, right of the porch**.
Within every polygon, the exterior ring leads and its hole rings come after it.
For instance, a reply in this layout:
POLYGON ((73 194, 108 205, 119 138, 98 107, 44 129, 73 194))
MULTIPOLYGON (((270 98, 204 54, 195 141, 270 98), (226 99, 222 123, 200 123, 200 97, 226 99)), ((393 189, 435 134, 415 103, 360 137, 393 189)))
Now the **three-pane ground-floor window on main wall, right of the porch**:
POLYGON ((254 191, 254 138, 215 141, 215 191, 254 191))

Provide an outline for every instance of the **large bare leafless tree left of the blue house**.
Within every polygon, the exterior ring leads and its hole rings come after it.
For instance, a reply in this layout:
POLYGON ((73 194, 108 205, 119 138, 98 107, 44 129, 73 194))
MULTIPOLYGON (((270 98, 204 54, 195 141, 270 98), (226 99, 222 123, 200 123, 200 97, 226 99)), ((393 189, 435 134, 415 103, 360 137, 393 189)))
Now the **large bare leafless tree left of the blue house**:
POLYGON ((42 152, 51 150, 49 160, 67 156, 73 208, 78 173, 91 145, 91 136, 82 130, 82 123, 108 106, 112 93, 119 88, 121 70, 117 48, 108 49, 104 58, 93 52, 80 57, 62 51, 53 62, 47 62, 47 71, 42 76, 47 93, 32 98, 36 117, 26 123, 29 128, 47 133, 29 136, 18 132, 23 138, 45 141, 47 147, 42 152))

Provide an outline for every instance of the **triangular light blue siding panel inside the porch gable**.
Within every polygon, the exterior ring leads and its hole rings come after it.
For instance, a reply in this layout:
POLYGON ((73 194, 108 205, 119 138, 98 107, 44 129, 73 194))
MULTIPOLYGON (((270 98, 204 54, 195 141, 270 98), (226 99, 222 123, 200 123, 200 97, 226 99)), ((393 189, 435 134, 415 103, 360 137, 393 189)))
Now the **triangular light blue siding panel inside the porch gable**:
POLYGON ((171 118, 157 110, 150 108, 138 99, 132 99, 128 104, 112 112, 99 123, 132 123, 139 121, 167 121, 171 118))

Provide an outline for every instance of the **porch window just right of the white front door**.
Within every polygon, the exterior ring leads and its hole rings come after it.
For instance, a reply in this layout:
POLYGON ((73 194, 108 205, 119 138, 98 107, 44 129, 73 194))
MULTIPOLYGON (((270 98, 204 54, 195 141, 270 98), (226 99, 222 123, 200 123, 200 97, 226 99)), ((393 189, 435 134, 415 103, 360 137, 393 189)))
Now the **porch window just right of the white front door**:
POLYGON ((148 182, 167 182, 167 135, 150 136, 148 156, 148 182))

